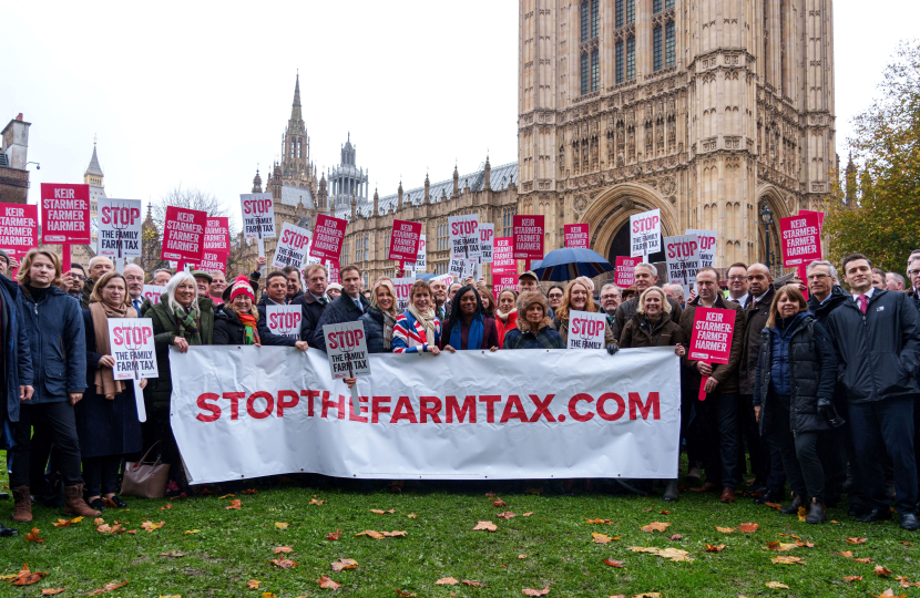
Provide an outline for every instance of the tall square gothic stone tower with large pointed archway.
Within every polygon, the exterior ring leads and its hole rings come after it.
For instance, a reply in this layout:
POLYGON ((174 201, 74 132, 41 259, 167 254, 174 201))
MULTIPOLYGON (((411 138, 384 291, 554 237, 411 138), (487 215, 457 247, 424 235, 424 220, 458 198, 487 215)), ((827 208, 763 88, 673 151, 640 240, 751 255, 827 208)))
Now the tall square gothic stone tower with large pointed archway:
MULTIPOLYGON (((520 0, 521 214, 589 223, 628 255, 628 217, 718 231, 716 266, 764 260, 777 220, 821 209, 836 167, 831 0, 520 0)), ((664 259, 662 255, 653 259, 664 259)))

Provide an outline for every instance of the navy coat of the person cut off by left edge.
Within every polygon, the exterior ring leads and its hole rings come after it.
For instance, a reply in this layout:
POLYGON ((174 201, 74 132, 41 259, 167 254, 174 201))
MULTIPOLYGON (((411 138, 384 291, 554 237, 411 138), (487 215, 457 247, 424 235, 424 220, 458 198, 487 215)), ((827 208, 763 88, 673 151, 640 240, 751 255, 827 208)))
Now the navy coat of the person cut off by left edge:
MULTIPOLYGON (((29 351, 29 336, 22 320, 22 309, 17 298, 22 291, 19 285, 0 276, 0 301, 3 323, 3 380, 6 380, 7 420, 19 421, 19 386, 32 385, 32 354, 29 351)), ((0 412, 0 430, 3 427, 3 413, 0 412)))

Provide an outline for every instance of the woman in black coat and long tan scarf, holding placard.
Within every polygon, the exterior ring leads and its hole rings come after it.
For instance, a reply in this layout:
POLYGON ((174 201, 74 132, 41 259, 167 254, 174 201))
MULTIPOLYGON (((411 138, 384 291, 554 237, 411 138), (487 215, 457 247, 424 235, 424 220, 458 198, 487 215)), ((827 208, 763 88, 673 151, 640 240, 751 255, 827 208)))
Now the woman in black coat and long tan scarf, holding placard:
MULTIPOLYGON (((83 461, 83 481, 90 508, 127 508, 116 494, 124 455, 141 451, 141 422, 131 380, 115 380, 115 359, 109 342, 109 318, 136 318, 127 281, 119 272, 102 275, 83 310, 86 336, 86 382, 83 400, 73 409, 83 461)), ((140 386, 147 381, 141 380, 140 386)))

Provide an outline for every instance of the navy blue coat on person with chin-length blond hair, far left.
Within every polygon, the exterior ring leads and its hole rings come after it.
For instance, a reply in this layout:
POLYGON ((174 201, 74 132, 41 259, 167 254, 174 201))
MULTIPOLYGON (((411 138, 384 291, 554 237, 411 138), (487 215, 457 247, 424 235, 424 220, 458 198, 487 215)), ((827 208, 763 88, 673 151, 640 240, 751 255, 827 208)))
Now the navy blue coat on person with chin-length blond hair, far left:
POLYGON ((49 287, 35 303, 20 288, 17 299, 29 334, 35 393, 30 404, 62 403, 86 390, 86 339, 80 301, 49 287))

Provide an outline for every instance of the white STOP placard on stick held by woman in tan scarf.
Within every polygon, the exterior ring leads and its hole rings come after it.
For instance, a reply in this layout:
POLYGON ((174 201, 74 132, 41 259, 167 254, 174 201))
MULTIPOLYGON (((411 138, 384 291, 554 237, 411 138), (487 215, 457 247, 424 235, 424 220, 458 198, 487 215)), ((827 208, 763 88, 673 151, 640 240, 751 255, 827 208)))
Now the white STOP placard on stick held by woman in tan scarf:
POLYGON ((134 403, 137 419, 147 419, 144 409, 144 391, 141 380, 159 378, 156 349, 153 346, 153 320, 150 318, 109 318, 109 346, 115 365, 115 380, 131 380, 134 384, 134 403))

